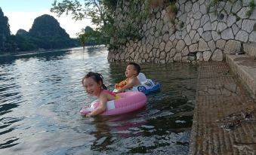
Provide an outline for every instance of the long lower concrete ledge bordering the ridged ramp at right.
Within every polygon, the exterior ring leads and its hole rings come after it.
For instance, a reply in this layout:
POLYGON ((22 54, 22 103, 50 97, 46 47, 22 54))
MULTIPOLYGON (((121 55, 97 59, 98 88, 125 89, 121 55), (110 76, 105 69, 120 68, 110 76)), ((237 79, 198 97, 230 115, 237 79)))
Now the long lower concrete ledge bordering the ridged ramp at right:
POLYGON ((256 59, 242 54, 227 55, 226 61, 233 73, 238 75, 252 97, 256 99, 256 59))

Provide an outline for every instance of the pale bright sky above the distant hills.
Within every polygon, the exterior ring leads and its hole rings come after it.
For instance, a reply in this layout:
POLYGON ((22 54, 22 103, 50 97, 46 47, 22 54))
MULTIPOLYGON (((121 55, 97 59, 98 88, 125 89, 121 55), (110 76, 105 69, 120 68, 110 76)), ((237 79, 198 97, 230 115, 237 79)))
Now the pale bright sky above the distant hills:
MULTIPOLYGON (((81 32, 81 29, 86 26, 91 26, 91 21, 88 19, 76 21, 72 20, 71 17, 66 17, 66 14, 57 17, 57 14, 50 12, 53 2, 54 0, 0 0, 0 8, 8 17, 11 33, 14 35, 18 29, 25 29, 28 32, 35 18, 43 14, 53 16, 60 23, 60 27, 66 30, 70 38, 76 38, 77 32, 81 32)), ((62 2, 62 0, 57 2, 62 2)), ((94 28, 95 26, 91 27, 94 28)))

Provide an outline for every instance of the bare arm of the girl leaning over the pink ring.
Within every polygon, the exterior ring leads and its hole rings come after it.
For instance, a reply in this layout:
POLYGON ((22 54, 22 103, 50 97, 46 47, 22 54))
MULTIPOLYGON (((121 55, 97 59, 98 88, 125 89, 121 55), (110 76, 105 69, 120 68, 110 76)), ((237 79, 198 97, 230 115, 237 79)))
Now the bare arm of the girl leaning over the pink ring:
POLYGON ((104 93, 100 94, 99 101, 100 101, 100 105, 98 106, 98 108, 95 109, 94 111, 91 111, 91 113, 87 114, 86 117, 93 117, 93 116, 96 116, 97 114, 102 113, 103 111, 106 111, 106 102, 107 102, 106 94, 104 93))

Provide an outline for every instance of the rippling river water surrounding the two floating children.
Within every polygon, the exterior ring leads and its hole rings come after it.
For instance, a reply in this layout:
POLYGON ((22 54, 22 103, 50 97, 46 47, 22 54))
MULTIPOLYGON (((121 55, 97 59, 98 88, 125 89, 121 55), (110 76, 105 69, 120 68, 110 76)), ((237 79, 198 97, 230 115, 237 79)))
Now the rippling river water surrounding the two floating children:
POLYGON ((125 62, 109 63, 105 47, 0 57, 0 154, 187 154, 196 95, 196 65, 141 63, 162 84, 140 111, 86 118, 95 98, 81 79, 125 79, 125 62))

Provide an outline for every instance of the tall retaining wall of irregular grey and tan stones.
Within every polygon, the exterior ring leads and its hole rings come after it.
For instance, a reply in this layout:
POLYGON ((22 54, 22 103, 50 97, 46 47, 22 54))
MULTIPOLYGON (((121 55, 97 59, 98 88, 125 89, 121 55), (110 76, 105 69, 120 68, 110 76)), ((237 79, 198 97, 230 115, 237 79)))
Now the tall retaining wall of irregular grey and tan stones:
MULTIPOLYGON (((174 24, 168 7, 154 8, 143 23, 143 38, 110 50, 109 61, 223 61, 225 54, 240 53, 243 43, 256 42, 256 9, 249 17, 246 14, 251 0, 224 0, 207 11, 211 1, 177 0, 174 24)), ((119 27, 125 24, 121 21, 129 11, 128 2, 124 0, 122 5, 117 8, 119 27)), ((145 11, 145 5, 138 9, 145 11)))

